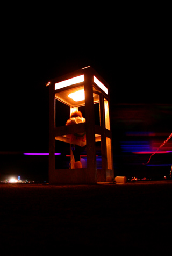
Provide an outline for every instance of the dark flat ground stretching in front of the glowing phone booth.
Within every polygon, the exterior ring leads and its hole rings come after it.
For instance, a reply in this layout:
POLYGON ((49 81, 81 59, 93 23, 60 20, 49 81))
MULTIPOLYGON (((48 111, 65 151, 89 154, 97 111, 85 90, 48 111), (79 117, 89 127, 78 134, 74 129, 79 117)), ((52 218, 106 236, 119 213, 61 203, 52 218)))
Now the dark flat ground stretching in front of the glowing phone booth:
POLYGON ((0 184, 1 255, 168 255, 172 181, 0 184))

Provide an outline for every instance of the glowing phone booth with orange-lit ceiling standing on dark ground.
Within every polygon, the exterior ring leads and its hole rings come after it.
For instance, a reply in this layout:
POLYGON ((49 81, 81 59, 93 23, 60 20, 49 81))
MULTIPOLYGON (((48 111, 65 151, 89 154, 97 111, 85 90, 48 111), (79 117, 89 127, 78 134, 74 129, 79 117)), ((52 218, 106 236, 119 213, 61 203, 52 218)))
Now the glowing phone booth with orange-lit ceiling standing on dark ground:
POLYGON ((113 181, 109 85, 90 66, 53 79, 48 82, 48 85, 49 184, 96 184, 113 181), (56 109, 56 101, 63 103, 60 109, 56 109), (71 112, 84 107, 85 122, 58 127, 56 115, 63 112, 64 104, 65 107, 66 105, 69 107, 68 117, 71 112), (98 125, 95 124, 95 117, 99 119, 98 125), (73 154, 70 150, 71 167, 56 168, 56 142, 61 141, 70 146, 68 134, 76 133, 86 133, 87 166, 75 169, 73 154), (101 148, 101 168, 97 168, 96 143, 99 143, 101 148))

